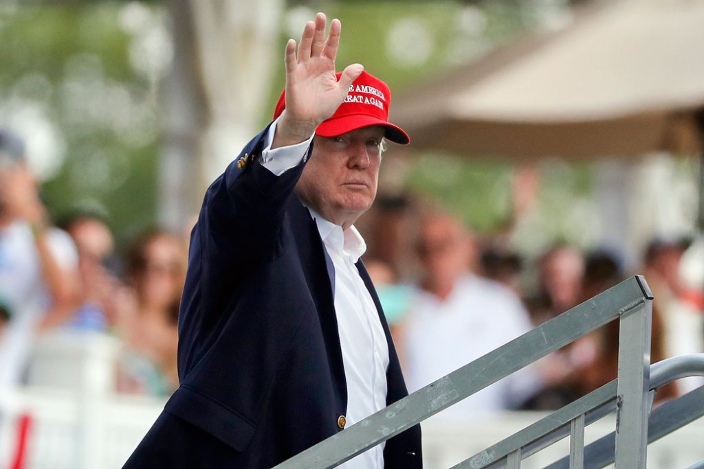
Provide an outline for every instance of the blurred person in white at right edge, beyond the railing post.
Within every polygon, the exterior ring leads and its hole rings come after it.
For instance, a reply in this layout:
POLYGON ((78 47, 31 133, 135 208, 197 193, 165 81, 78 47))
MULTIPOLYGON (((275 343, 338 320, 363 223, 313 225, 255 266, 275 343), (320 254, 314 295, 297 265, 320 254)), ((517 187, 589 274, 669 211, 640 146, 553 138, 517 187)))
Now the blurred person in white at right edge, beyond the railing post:
MULTIPOLYGON (((643 253, 643 274, 655 297, 653 309, 662 316, 667 356, 704 352, 704 311, 692 301, 680 271, 682 256, 690 244, 688 238, 656 238, 643 253)), ((685 392, 703 382, 692 377, 679 380, 678 385, 685 392)))

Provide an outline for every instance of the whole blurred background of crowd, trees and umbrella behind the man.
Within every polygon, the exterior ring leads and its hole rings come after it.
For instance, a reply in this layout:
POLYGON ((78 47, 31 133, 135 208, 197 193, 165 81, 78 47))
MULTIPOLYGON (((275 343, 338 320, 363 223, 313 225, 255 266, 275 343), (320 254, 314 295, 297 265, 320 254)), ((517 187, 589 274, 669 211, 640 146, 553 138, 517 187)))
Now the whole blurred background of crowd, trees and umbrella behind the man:
MULTIPOLYGON (((0 468, 120 467, 161 411, 203 193, 317 11, 411 136, 358 221, 411 388, 636 273, 652 361, 704 352, 704 4, 0 0, 0 468)), ((615 337, 439 414, 428 467, 615 377, 615 337)))

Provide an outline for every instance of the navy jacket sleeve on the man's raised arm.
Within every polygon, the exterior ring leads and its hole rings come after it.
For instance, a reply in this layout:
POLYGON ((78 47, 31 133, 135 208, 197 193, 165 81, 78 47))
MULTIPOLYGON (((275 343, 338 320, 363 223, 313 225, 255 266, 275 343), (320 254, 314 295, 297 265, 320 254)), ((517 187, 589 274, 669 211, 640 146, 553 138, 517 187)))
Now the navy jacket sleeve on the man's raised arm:
MULTIPOLYGON (((269 127, 250 141, 213 181, 191 233, 189 262, 179 314, 179 374, 217 338, 254 269, 281 252, 289 198, 305 161, 276 176, 260 164, 269 127)), ((313 145, 308 147, 308 155, 313 145)))

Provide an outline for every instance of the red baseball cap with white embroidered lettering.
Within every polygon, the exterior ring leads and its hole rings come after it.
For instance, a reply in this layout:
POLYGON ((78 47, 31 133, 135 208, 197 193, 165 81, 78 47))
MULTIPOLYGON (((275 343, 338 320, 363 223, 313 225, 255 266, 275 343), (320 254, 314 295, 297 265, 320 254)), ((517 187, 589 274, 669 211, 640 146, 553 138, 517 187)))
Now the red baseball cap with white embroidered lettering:
MULTIPOLYGON (((340 79, 341 72, 337 72, 340 79)), ((286 107, 286 91, 282 92, 274 111, 274 119, 284 112, 286 107)), ((386 127, 384 136, 390 141, 406 145, 410 137, 398 127, 389 122, 389 107, 391 106, 391 90, 389 86, 374 75, 367 72, 357 77, 350 85, 349 92, 335 113, 324 120, 315 134, 324 137, 334 137, 349 131, 382 125, 386 127)))

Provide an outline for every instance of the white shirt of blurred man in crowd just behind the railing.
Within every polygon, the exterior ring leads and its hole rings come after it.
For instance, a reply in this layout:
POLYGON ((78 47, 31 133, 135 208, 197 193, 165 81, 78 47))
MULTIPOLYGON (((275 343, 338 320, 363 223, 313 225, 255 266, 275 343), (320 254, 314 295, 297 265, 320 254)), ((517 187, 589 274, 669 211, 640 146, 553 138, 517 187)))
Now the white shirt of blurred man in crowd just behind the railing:
MULTIPOLYGON (((417 291, 403 336, 408 391, 442 378, 531 329, 528 314, 508 288, 477 276, 460 278, 446 300, 417 291)), ((463 423, 520 402, 536 391, 536 375, 524 368, 472 394, 431 420, 463 423)))

